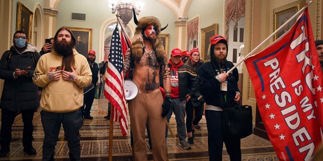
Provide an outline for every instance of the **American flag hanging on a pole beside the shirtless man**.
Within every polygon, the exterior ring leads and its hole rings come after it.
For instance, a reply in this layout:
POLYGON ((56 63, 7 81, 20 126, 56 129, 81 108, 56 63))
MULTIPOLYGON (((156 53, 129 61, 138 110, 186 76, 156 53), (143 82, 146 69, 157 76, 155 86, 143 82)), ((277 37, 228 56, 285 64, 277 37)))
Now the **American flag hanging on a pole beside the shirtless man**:
POLYGON ((105 74, 104 96, 111 102, 113 120, 120 123, 123 136, 127 135, 128 118, 126 109, 126 98, 123 90, 123 54, 118 27, 112 35, 109 62, 105 74))

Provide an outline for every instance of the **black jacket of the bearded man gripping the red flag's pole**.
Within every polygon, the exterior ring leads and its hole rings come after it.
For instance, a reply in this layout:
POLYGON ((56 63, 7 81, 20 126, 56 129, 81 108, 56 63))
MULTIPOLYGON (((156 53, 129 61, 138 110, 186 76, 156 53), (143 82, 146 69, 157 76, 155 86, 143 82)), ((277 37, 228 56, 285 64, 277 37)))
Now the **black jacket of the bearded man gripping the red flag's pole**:
POLYGON ((227 61, 224 64, 224 71, 221 71, 219 64, 213 63, 213 61, 205 62, 199 68, 198 76, 201 79, 198 91, 202 94, 205 103, 208 105, 218 106, 218 107, 232 107, 236 103, 234 98, 238 89, 239 73, 238 69, 235 68, 227 77, 228 91, 220 91, 220 82, 216 79, 216 76, 220 73, 226 73, 233 67, 231 61, 227 61), (226 96, 226 99, 225 99, 226 96))

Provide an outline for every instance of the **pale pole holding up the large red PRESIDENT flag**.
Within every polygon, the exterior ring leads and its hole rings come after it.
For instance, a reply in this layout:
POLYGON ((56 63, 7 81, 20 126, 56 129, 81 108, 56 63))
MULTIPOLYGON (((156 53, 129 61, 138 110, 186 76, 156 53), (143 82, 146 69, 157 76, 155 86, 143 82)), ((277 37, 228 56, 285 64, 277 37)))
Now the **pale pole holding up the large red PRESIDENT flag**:
POLYGON ((273 32, 271 35, 269 35, 265 40, 263 40, 257 47, 255 47, 248 55, 246 55, 242 60, 237 62, 235 66, 233 66, 227 73, 230 73, 235 69, 238 65, 240 65, 245 59, 247 59, 251 54, 253 54, 256 50, 260 48, 261 45, 263 45, 266 41, 271 39, 276 33, 281 31, 287 24, 289 24, 294 18, 296 18, 300 13, 302 13, 310 4, 312 1, 308 2, 301 10, 299 10, 294 16, 292 16, 289 20, 287 20, 281 27, 279 27, 275 32, 273 32))

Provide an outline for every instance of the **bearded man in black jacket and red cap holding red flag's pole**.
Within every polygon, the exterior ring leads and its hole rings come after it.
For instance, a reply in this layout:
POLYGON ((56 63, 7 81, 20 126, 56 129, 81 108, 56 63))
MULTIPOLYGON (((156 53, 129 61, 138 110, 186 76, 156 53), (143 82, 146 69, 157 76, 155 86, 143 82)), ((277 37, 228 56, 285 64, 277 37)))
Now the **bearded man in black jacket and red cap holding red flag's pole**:
POLYGON ((199 68, 201 83, 199 92, 205 100, 205 119, 208 137, 208 155, 211 161, 222 160, 223 142, 225 142, 230 160, 241 160, 240 138, 224 139, 222 135, 223 108, 233 107, 240 100, 238 89, 239 73, 227 60, 228 41, 221 35, 210 39, 211 60, 199 68))

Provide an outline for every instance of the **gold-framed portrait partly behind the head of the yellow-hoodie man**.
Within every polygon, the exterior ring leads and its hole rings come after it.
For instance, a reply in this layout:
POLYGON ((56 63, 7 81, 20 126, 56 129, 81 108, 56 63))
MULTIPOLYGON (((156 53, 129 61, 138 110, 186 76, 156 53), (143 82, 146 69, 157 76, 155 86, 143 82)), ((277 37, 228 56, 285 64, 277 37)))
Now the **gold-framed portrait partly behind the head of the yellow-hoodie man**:
MULTIPOLYGON (((67 26, 65 26, 67 27, 67 26)), ((78 53, 87 57, 88 51, 92 50, 92 28, 80 28, 80 27, 67 27, 69 28, 75 39, 75 49, 78 53), (79 39, 81 38, 81 39, 79 39)))

